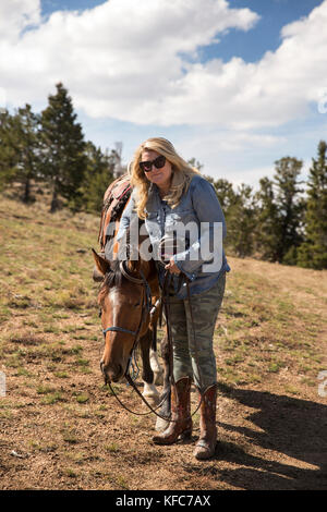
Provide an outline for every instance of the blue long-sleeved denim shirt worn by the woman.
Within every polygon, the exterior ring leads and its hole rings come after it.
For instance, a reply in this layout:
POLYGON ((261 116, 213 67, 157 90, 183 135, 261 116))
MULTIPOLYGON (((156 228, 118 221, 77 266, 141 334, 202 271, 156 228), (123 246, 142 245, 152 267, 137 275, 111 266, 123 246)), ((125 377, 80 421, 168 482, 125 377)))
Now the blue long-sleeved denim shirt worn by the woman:
MULTIPOLYGON (((135 206, 134 190, 125 207, 117 240, 121 240, 130 225, 135 206)), ((135 215, 135 214, 134 214, 135 215)), ((198 294, 209 290, 225 272, 230 271, 222 247, 226 236, 226 222, 214 186, 199 174, 195 174, 180 203, 171 208, 159 195, 158 187, 152 184, 146 205, 146 231, 156 255, 164 236, 180 234, 183 247, 173 256, 175 265, 189 278, 190 294, 198 294), (218 224, 217 224, 218 223, 218 224), (185 230, 189 227, 191 230, 185 230)), ((156 259, 156 258, 155 258, 156 259)), ((159 281, 162 284, 165 267, 157 264, 159 281)), ((186 280, 180 283, 180 276, 172 275, 175 295, 187 296, 186 280)))

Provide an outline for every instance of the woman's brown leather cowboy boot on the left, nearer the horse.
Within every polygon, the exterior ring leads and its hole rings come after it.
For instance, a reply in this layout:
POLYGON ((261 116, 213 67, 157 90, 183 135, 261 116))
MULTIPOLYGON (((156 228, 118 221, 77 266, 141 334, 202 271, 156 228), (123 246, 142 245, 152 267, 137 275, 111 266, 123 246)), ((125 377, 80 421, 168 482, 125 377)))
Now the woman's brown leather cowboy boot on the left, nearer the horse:
POLYGON ((171 422, 162 434, 155 436, 156 444, 172 444, 182 436, 191 437, 192 418, 190 403, 191 379, 182 377, 171 388, 171 422))

